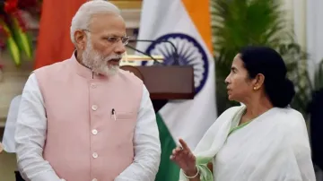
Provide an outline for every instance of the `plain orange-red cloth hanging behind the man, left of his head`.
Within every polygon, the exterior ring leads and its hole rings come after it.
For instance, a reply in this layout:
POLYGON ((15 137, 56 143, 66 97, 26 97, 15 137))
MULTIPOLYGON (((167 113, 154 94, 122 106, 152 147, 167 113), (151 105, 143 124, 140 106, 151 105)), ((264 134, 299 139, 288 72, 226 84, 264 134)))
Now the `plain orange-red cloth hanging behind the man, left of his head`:
POLYGON ((63 61, 74 51, 70 26, 74 13, 86 0, 44 0, 39 22, 35 68, 63 61))

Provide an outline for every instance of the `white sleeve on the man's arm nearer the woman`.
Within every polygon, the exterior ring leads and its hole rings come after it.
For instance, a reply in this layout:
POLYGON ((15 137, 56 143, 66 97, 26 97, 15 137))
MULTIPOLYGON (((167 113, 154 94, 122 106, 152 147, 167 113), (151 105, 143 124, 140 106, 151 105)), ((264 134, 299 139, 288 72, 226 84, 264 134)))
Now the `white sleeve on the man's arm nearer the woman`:
POLYGON ((135 159, 115 181, 153 181, 161 161, 161 142, 149 92, 144 86, 134 136, 135 159))

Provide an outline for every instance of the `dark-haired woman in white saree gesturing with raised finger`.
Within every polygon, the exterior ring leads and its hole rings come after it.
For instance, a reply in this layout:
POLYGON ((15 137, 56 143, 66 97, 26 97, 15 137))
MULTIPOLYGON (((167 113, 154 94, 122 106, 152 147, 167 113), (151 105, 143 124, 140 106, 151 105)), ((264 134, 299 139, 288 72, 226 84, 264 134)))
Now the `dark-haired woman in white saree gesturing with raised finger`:
POLYGON ((229 99, 243 103, 217 118, 194 152, 186 142, 170 159, 189 181, 315 181, 301 113, 282 57, 269 47, 245 47, 226 78, 229 99))

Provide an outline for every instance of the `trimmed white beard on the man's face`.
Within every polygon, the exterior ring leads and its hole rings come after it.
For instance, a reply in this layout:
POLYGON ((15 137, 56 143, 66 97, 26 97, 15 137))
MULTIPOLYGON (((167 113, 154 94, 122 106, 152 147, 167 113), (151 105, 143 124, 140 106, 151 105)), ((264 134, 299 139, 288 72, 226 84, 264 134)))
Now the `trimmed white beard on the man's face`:
MULTIPOLYGON (((90 40, 90 39, 89 39, 90 40)), ((111 59, 122 58, 120 55, 102 56, 98 51, 94 50, 90 41, 88 41, 85 51, 82 55, 82 63, 92 69, 93 73, 106 76, 113 76, 118 73, 119 65, 108 65, 111 59)))

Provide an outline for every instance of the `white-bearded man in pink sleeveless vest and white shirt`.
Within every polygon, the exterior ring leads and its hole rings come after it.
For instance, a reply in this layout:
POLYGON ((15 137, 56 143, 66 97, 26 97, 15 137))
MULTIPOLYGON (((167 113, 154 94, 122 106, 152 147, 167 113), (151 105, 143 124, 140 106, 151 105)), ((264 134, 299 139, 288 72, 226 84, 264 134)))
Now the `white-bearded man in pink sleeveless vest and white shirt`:
POLYGON ((143 82, 118 69, 128 41, 118 8, 83 4, 71 39, 71 58, 34 71, 23 89, 15 132, 22 177, 153 181, 158 128, 143 82))

